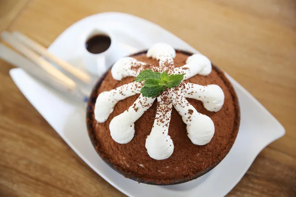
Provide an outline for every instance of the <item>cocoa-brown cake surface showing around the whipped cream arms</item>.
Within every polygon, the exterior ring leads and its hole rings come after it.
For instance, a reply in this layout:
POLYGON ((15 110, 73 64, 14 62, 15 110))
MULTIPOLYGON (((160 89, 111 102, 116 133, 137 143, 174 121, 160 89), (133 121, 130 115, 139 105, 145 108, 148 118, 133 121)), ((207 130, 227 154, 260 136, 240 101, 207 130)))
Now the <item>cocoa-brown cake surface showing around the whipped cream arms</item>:
MULTIPOLYGON (((155 59, 147 58, 146 54, 134 56, 134 58, 147 64, 158 64, 155 59)), ((175 66, 185 65, 187 58, 188 55, 177 53, 174 59, 175 66)), ((130 83, 134 79, 134 77, 126 77, 121 81, 117 81, 113 79, 111 72, 109 72, 97 90, 96 96, 104 91, 110 91, 130 83)), ((125 176, 132 176, 156 184, 157 180, 159 184, 174 183, 174 181, 178 182, 180 179, 188 180, 190 177, 196 177, 197 174, 205 173, 220 162, 232 146, 238 130, 238 106, 235 93, 223 73, 217 69, 213 69, 208 76, 195 75, 185 82, 204 86, 217 84, 224 93, 224 104, 218 112, 206 110, 199 100, 187 99, 199 113, 207 115, 214 122, 215 134, 208 144, 198 146, 190 141, 182 117, 173 108, 168 134, 174 142, 174 152, 166 160, 153 160, 150 158, 145 148, 145 142, 153 127, 157 111, 156 101, 135 122, 133 139, 126 144, 115 142, 110 135, 110 122, 134 103, 139 97, 137 94, 120 100, 106 122, 92 122, 96 134, 96 149, 101 157, 125 176)), ((190 112, 188 111, 188 114, 190 112)), ((94 117, 92 119, 94 120, 94 117)))

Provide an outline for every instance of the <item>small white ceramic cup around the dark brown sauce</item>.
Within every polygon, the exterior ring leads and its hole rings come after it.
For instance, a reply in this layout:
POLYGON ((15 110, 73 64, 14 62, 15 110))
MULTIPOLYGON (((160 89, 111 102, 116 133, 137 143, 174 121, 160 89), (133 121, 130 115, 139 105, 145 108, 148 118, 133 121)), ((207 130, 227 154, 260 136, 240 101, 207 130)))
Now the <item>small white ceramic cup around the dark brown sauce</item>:
POLYGON ((116 43, 115 43, 114 37, 111 35, 111 33, 107 31, 104 31, 98 28, 93 28, 92 30, 85 33, 82 41, 83 41, 82 42, 83 65, 90 73, 101 76, 115 61, 113 58, 114 57, 113 54, 116 54, 116 43), (89 40, 91 37, 95 35, 106 35, 110 37, 111 44, 106 51, 102 53, 94 54, 89 52, 86 49, 87 40, 89 40))

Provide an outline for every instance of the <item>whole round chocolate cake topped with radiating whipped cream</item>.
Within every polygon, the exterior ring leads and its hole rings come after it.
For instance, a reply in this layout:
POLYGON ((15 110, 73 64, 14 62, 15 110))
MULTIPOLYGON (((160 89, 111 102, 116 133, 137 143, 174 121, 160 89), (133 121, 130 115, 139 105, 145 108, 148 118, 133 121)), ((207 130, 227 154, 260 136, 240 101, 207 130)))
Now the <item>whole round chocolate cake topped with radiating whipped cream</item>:
POLYGON ((223 71, 201 54, 161 44, 117 61, 94 87, 87 108, 100 157, 125 177, 153 185, 179 184, 210 171, 229 152, 239 122, 237 96, 223 71), (161 74, 167 86, 158 96, 148 98, 143 90, 150 78, 135 82, 144 70, 168 73, 161 74), (170 86, 169 79, 183 76, 170 86))

